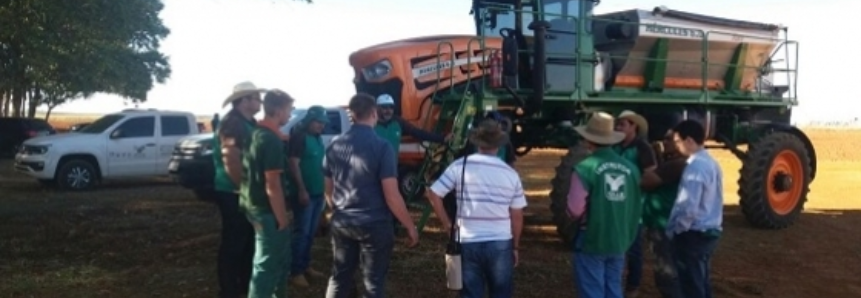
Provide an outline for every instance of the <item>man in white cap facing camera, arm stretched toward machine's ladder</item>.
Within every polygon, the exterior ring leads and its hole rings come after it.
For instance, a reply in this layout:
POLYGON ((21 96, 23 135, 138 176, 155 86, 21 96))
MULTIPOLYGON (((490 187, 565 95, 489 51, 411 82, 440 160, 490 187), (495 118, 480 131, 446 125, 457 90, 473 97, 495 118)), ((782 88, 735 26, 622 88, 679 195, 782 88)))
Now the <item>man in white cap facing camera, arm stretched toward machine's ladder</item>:
POLYGON ((388 141, 389 144, 392 144, 395 154, 401 150, 401 137, 404 135, 413 136, 424 142, 434 143, 445 142, 451 137, 451 135, 442 136, 424 131, 395 115, 395 99, 391 95, 383 94, 378 96, 377 108, 380 119, 377 121, 374 131, 377 132, 377 135, 388 141))

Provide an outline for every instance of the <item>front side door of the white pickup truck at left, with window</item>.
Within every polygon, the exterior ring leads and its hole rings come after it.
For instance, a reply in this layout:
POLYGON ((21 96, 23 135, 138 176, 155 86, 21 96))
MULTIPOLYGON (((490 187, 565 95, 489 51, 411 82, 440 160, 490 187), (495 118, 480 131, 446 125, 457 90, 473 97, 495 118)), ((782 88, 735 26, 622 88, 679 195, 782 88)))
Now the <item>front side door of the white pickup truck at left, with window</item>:
POLYGON ((109 176, 147 176, 155 172, 155 116, 129 117, 108 138, 109 176))

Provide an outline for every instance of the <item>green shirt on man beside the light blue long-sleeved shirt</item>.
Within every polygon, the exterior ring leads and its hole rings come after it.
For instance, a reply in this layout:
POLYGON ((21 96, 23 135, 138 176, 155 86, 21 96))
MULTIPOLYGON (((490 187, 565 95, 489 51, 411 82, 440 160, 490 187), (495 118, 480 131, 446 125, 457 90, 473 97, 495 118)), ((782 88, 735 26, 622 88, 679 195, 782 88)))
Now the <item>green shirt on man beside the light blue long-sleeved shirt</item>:
POLYGON ((687 166, 684 158, 676 158, 658 165, 655 174, 661 178, 661 185, 645 192, 643 204, 643 225, 647 228, 663 230, 667 227, 670 212, 679 193, 679 181, 687 166))

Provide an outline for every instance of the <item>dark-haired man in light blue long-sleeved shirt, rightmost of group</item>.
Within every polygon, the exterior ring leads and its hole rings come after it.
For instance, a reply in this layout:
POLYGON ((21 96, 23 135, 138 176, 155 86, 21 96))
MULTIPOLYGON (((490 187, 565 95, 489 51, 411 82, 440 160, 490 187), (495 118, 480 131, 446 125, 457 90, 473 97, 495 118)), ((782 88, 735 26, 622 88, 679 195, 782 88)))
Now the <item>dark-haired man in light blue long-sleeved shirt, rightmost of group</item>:
POLYGON ((673 141, 688 156, 679 193, 670 212, 666 233, 672 239, 679 284, 686 298, 711 298, 711 256, 723 220, 723 172, 708 154, 705 129, 694 120, 673 128, 673 141))

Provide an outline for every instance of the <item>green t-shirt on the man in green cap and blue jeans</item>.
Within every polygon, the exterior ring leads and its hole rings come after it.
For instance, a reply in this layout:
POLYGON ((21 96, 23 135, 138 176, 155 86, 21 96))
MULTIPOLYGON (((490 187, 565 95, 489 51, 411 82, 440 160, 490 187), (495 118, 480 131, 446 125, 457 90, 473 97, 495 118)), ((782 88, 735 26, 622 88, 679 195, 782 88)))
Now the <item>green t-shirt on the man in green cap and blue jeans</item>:
MULTIPOLYGON (((299 158, 299 172, 309 196, 323 195, 323 156, 326 146, 320 135, 295 131, 290 136, 291 158, 299 158)), ((293 188, 298 192, 298 187, 293 188)))

